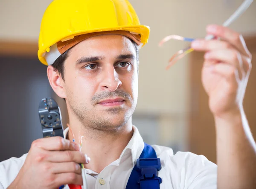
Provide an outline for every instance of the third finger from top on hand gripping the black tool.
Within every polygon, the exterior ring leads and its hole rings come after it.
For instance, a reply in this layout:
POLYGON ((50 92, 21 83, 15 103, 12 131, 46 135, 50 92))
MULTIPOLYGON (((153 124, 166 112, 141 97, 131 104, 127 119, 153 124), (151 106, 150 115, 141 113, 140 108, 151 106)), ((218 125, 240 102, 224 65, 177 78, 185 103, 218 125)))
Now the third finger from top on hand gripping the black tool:
POLYGON ((57 173, 67 173, 74 172, 76 174, 81 174, 81 166, 75 162, 65 162, 65 163, 49 163, 51 165, 52 172, 57 173))

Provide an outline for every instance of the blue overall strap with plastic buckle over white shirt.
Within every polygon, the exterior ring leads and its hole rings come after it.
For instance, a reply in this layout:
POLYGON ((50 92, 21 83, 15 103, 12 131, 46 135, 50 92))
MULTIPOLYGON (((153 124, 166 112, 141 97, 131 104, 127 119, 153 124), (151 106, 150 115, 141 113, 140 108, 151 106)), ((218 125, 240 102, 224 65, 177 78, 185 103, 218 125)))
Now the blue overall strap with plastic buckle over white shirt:
POLYGON ((154 148, 145 143, 145 147, 132 169, 126 189, 160 189, 162 179, 157 177, 161 169, 160 159, 154 148))

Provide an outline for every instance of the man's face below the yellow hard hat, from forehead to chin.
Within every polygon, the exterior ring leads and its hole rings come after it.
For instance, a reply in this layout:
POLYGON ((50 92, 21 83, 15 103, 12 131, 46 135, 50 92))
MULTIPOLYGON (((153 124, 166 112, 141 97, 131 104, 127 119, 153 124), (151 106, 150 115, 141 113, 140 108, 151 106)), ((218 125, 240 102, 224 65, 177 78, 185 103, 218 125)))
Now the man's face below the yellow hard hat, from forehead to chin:
POLYGON ((96 36, 74 46, 64 63, 69 112, 97 130, 124 125, 137 105, 137 63, 134 44, 121 35, 96 36))

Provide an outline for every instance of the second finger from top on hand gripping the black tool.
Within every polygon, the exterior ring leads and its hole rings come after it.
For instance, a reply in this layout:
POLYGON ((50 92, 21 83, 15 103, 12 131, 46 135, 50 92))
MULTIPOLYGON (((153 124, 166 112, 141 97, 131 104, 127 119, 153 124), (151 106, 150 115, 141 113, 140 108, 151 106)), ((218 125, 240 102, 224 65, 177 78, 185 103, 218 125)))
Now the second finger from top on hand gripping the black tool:
POLYGON ((76 162, 78 164, 88 164, 90 158, 79 151, 52 151, 48 152, 48 155, 45 159, 50 162, 76 162))

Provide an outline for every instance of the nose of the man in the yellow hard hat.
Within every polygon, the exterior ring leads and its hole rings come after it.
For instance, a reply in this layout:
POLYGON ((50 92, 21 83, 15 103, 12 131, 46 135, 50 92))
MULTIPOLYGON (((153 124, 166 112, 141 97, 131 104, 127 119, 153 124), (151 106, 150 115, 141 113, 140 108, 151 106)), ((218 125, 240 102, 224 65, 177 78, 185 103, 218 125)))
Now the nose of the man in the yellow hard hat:
POLYGON ((102 74, 101 88, 115 91, 122 85, 119 75, 113 66, 106 68, 102 74))

